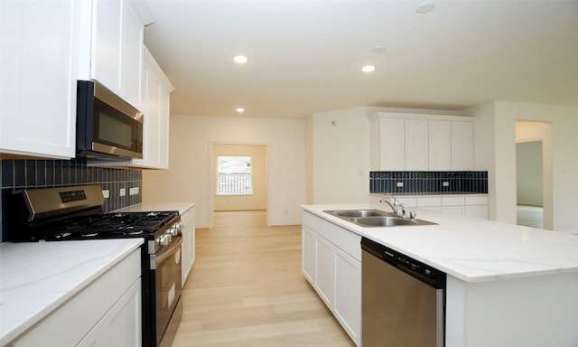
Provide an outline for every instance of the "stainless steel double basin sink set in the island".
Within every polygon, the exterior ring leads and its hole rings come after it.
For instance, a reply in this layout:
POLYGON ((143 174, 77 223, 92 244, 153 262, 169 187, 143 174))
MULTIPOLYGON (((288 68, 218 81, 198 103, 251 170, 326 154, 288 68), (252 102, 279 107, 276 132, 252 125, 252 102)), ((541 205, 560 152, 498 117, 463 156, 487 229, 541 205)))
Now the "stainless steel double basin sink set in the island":
POLYGON ((361 227, 401 227, 418 225, 436 225, 427 220, 410 219, 394 213, 380 210, 334 210, 323 211, 341 220, 347 220, 361 227))

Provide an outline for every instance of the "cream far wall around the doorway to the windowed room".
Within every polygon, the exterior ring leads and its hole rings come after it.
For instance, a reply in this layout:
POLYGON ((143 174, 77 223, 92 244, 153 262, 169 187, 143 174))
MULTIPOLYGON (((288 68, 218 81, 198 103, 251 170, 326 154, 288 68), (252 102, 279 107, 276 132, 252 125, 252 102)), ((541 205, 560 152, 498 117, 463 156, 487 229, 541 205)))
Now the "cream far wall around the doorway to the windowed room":
POLYGON ((304 120, 171 116, 170 169, 144 171, 143 202, 197 202, 197 227, 208 228, 212 144, 266 145, 268 224, 301 223, 304 120))

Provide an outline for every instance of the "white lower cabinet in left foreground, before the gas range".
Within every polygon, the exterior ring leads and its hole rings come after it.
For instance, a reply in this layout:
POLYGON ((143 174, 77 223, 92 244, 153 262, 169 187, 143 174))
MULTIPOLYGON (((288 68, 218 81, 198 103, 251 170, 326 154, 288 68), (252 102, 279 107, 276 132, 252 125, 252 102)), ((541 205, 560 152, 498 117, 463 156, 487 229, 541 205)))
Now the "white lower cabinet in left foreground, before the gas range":
POLYGON ((141 290, 136 249, 8 346, 141 347, 141 290))

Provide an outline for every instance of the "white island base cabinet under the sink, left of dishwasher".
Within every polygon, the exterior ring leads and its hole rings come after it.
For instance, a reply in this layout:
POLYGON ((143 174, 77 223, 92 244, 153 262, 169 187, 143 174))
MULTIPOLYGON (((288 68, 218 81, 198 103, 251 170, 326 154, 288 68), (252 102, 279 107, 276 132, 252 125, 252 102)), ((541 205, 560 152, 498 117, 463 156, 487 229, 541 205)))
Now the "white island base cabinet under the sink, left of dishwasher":
POLYGON ((302 273, 361 344, 361 237, 303 211, 302 273))

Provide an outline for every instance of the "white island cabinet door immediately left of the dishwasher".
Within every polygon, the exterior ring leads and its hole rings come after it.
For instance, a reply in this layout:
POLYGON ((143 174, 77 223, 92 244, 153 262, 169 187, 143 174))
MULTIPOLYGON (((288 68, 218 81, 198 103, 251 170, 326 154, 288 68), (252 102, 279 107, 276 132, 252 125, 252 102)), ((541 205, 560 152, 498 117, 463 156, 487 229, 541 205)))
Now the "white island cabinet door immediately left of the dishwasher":
POLYGON ((341 326, 359 345, 361 342, 361 262, 341 249, 335 254, 334 312, 341 326))

